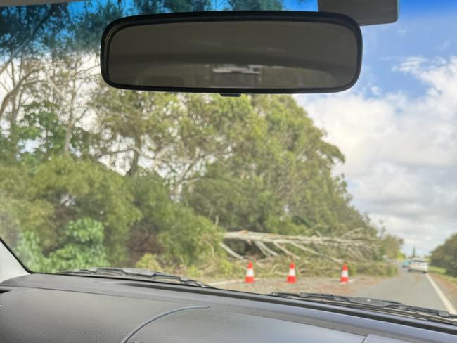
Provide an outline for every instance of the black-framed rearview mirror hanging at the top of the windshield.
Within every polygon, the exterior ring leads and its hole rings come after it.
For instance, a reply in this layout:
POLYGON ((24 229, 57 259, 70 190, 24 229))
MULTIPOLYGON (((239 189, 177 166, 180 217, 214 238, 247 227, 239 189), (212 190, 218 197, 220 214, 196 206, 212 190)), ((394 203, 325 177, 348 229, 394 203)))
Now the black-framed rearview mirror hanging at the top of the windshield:
POLYGON ((200 93, 327 93, 359 77, 351 18, 318 12, 207 12, 115 20, 101 73, 121 89, 200 93))

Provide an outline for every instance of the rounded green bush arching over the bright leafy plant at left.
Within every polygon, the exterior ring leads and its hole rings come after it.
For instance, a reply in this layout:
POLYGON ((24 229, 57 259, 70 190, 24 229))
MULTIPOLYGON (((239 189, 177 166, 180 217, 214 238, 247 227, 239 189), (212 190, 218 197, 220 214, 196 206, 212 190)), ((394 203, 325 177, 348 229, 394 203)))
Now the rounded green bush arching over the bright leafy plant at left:
POLYGON ((46 237, 48 249, 56 246, 56 231, 70 220, 90 217, 105 226, 105 245, 110 261, 125 259, 129 228, 141 217, 124 179, 91 160, 54 157, 43 162, 34 175, 37 197, 54 205, 55 230, 46 237), (52 242, 54 240, 54 242, 52 242))

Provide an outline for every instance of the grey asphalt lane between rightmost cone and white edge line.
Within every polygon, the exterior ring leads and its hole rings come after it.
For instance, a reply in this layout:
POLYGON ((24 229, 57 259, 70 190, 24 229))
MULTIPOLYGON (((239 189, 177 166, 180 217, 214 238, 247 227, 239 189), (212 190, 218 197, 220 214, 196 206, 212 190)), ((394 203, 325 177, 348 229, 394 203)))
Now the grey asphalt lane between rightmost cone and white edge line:
POLYGON ((449 304, 447 308, 444 304, 446 299, 439 297, 439 289, 433 287, 433 280, 430 282, 429 278, 430 276, 424 273, 400 270, 399 276, 361 287, 354 295, 449 311, 449 304))

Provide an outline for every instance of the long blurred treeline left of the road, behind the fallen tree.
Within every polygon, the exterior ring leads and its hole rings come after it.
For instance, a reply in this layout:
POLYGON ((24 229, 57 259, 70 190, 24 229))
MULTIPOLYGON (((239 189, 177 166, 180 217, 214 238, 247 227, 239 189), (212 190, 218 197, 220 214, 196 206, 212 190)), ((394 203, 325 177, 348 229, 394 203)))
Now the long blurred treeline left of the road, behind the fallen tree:
MULTIPOLYGON (((227 6, 281 7, 240 4, 227 6)), ((198 266, 224 259, 221 233, 240 229, 363 228, 381 246, 368 259, 395 257, 401 240, 350 205, 332 173, 342 153, 291 96, 142 93, 101 80, 98 46, 110 20, 211 6, 0 8, 0 236, 32 269, 134 266, 142 257, 198 266)))

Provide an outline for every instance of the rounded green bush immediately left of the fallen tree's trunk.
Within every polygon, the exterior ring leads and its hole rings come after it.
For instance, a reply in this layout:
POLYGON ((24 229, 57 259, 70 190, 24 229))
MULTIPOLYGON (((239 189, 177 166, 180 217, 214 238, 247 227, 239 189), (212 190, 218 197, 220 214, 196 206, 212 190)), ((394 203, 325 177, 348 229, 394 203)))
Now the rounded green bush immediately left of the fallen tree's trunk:
POLYGON ((142 256, 143 260, 150 259, 153 253, 168 264, 190 265, 218 253, 221 228, 181 203, 172 202, 160 176, 141 171, 130 177, 128 184, 141 211, 141 220, 130 231, 133 261, 142 256))

